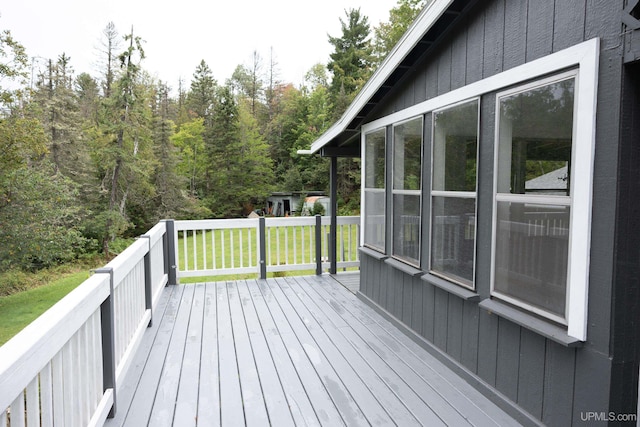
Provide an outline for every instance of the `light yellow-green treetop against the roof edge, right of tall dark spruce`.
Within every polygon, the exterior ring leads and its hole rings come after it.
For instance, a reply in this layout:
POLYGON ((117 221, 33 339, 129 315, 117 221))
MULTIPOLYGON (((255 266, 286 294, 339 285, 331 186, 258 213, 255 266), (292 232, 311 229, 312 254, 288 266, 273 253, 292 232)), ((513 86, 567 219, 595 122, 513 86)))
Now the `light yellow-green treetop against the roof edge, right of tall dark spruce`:
POLYGON ((425 5, 432 1, 398 0, 397 6, 389 11, 389 21, 381 22, 373 29, 373 55, 376 66, 391 52, 425 5))

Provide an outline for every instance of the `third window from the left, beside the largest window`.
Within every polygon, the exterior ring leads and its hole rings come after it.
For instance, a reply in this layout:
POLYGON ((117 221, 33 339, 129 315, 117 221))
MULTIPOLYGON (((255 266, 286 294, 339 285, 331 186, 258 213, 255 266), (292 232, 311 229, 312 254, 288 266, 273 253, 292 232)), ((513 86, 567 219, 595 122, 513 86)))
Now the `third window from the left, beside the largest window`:
POLYGON ((430 271, 473 288, 477 99, 433 113, 430 271))

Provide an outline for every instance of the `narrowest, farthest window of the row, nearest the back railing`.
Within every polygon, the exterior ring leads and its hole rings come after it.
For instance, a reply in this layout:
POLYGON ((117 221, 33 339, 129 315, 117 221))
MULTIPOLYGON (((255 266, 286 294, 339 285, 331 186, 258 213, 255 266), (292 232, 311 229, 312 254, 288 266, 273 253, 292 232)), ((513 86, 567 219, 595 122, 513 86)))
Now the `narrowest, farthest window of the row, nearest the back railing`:
POLYGON ((384 252, 385 128, 364 137, 364 244, 384 252))

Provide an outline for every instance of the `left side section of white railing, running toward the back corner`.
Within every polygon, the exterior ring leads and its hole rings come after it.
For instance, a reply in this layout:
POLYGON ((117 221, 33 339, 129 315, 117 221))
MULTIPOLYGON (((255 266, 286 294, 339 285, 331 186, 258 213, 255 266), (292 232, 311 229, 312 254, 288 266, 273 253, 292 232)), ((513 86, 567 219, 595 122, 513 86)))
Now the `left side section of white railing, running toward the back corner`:
POLYGON ((0 426, 104 423, 168 280, 165 235, 162 222, 0 347, 0 426))

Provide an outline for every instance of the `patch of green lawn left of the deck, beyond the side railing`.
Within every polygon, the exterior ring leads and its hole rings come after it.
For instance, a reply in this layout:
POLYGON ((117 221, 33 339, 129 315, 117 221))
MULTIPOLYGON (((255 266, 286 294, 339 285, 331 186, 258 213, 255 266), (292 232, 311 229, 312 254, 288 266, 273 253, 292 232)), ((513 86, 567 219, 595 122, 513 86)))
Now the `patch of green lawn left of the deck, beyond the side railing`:
POLYGON ((48 285, 0 297, 0 345, 9 341, 88 277, 88 271, 68 274, 48 285))

